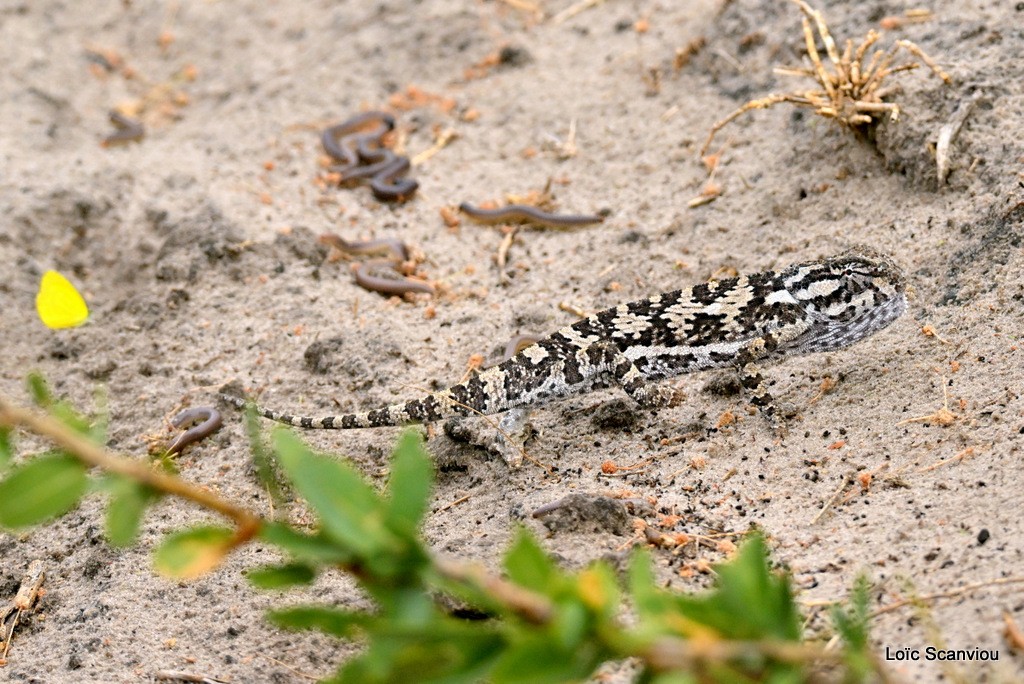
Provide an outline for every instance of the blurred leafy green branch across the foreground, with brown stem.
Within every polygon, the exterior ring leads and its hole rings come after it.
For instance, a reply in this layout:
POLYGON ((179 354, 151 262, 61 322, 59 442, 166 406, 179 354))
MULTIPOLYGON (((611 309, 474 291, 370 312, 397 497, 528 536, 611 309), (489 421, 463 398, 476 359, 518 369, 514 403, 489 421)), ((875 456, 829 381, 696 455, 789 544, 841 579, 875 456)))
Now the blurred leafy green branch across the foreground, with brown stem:
MULTIPOLYGON (((102 443, 103 421, 87 420, 54 400, 38 378, 30 380, 30 388, 36 403, 56 421, 19 421, 15 413, 22 410, 0 399, 0 526, 45 522, 98 490, 109 497, 108 537, 122 546, 135 540, 146 507, 160 497, 200 501, 191 496, 191 485, 164 472, 166 464, 159 475, 143 477, 137 463, 118 459, 127 465, 115 467, 113 461, 90 460, 88 450, 74 447, 74 440, 81 438, 86 446, 102 443), (12 426, 18 422, 63 448, 15 464, 12 426), (51 424, 80 437, 61 441, 51 424), (90 465, 104 467, 90 475, 90 465)), ((256 536, 288 558, 250 570, 248 579, 257 587, 287 590, 326 571, 352 574, 376 610, 301 605, 269 614, 286 629, 318 630, 366 644, 332 681, 570 682, 626 659, 638 664, 639 681, 659 684, 800 682, 826 672, 839 680, 862 681, 876 672, 868 650, 866 583, 855 588, 849 608, 834 611, 844 645, 826 652, 802 640, 790 581, 772 572, 758 536, 717 567, 715 589, 699 594, 657 587, 643 551, 634 552, 623 579, 601 561, 566 571, 523 528, 505 556, 501 578, 436 558, 427 549, 420 526, 433 468, 413 433, 400 438, 383 493, 351 465, 313 453, 290 431, 274 430, 271 443, 275 466, 262 463, 257 471, 270 478, 273 467, 280 468, 315 513, 317 528, 259 518, 225 502, 211 504, 204 495, 208 506, 233 517, 234 526, 201 525, 171 535, 155 562, 166 574, 196 576, 256 536), (441 595, 447 600, 438 601, 441 595), (442 607, 453 602, 465 608, 442 607)), ((254 443, 254 451, 265 454, 261 443, 254 443)))

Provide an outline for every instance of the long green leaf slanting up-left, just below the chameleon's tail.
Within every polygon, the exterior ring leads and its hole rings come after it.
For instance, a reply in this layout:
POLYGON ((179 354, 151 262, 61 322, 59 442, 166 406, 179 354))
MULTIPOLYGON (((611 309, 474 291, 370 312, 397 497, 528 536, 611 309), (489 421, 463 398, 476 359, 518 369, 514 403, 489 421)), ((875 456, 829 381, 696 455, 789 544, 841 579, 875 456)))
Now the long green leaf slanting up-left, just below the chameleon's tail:
POLYGON ((273 442, 285 473, 329 536, 362 559, 401 549, 385 525, 384 501, 352 467, 314 455, 288 430, 275 430, 273 442))

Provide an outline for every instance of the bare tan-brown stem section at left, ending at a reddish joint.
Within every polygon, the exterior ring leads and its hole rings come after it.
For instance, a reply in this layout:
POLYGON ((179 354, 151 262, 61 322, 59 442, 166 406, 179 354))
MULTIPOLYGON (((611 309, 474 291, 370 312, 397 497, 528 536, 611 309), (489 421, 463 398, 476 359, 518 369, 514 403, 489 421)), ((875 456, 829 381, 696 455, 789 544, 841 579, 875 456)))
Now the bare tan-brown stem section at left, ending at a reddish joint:
POLYGON ((230 518, 237 526, 232 546, 252 539, 263 523, 262 518, 258 515, 236 506, 208 489, 189 484, 185 480, 160 470, 154 470, 147 464, 139 461, 112 454, 92 443, 60 421, 16 407, 2 396, 0 396, 0 426, 28 428, 36 434, 48 437, 57 446, 86 465, 100 468, 105 472, 124 475, 157 491, 186 499, 230 518))

